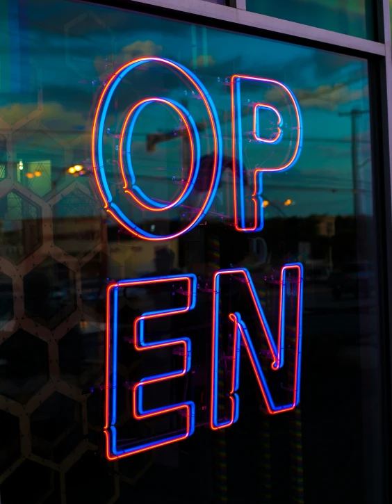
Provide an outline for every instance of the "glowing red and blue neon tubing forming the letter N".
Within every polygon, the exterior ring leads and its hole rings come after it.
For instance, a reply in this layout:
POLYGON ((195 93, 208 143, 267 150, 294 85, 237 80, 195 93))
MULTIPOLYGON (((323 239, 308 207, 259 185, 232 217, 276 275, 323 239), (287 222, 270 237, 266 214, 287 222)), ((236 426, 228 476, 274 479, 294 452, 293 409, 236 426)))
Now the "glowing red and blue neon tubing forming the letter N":
POLYGON ((256 293, 256 288, 252 282, 250 273, 245 268, 220 270, 213 276, 213 322, 212 322, 212 358, 211 358, 211 429, 217 430, 227 428, 238 420, 239 415, 239 397, 238 388, 239 368, 240 368, 240 339, 242 338, 247 354, 250 358, 254 374, 261 393, 263 395, 269 414, 288 412, 300 402, 300 380, 301 380, 301 352, 302 352, 302 290, 303 290, 303 268, 301 263, 289 263, 281 269, 281 282, 279 293, 279 323, 278 323, 278 341, 272 336, 270 327, 266 320, 263 308, 256 293), (286 272, 288 270, 297 271, 297 305, 296 305, 296 334, 295 334, 295 372, 293 380, 293 400, 286 405, 275 405, 272 399, 268 383, 260 365, 259 357, 254 349, 252 339, 247 327, 238 312, 229 314, 229 319, 234 323, 234 341, 233 341, 233 368, 231 373, 231 390, 229 399, 231 404, 231 414, 229 419, 220 420, 218 418, 218 366, 219 366, 219 298, 220 298, 220 277, 222 275, 241 275, 247 284, 247 288, 252 296, 252 302, 256 309, 261 328, 268 343, 268 348, 272 355, 271 368, 273 371, 284 366, 284 329, 285 329, 285 302, 286 302, 286 272))

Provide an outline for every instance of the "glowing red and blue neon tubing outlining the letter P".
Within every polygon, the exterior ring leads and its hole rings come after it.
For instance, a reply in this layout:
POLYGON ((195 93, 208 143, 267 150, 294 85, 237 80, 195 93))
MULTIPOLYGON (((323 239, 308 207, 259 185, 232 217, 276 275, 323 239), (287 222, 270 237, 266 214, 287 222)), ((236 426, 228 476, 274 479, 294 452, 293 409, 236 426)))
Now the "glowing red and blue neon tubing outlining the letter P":
MULTIPOLYGON (((257 107, 259 104, 256 104, 257 107)), ((266 108, 266 104, 262 104, 266 108)), ((275 107, 269 106, 271 110, 277 112, 278 117, 280 117, 279 112, 275 107)), ((253 116, 254 127, 255 124, 255 111, 253 116)), ((277 124, 279 127, 279 124, 277 124)), ((279 127, 280 128, 280 127, 279 127)), ((254 136, 258 137, 257 131, 254 130, 254 136)), ((243 231, 245 233, 252 233, 254 231, 261 231, 264 225, 264 210, 263 210, 263 198, 261 193, 263 192, 263 172, 284 172, 289 170, 296 162, 300 156, 302 149, 302 117, 300 112, 300 106, 298 105, 297 99, 293 95, 293 92, 279 81, 273 79, 264 79, 262 77, 252 77, 248 75, 233 75, 231 77, 231 140, 232 140, 232 162, 233 162, 233 191, 234 191, 234 226, 237 231, 243 231), (291 158, 286 161, 283 165, 277 166, 276 168, 256 168, 254 170, 254 191, 252 194, 252 204, 254 209, 254 225, 252 227, 247 227, 245 223, 245 190, 244 190, 244 177, 243 177, 243 139, 242 139, 242 120, 241 120, 241 93, 240 93, 240 81, 256 81, 271 83, 279 86, 286 92, 293 108, 295 111, 295 117, 297 120, 297 138, 295 140, 294 151, 291 158), (237 187, 237 170, 239 178, 239 191, 237 187), (239 194, 238 194, 239 193, 239 194), (238 205, 239 198, 239 205, 238 205), (240 207, 240 216, 238 217, 238 206, 240 207), (238 224, 240 220, 240 224, 238 224)), ((259 138, 259 142, 268 143, 266 139, 259 138)))

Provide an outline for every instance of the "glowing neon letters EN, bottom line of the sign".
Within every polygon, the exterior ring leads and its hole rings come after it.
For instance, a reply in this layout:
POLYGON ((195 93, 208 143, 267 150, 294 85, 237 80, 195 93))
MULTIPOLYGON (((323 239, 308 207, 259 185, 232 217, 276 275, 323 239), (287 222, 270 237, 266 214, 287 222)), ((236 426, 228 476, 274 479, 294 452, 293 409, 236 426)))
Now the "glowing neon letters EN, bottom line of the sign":
MULTIPOLYGON (((170 275, 167 277, 152 277, 147 279, 131 279, 121 280, 110 284, 107 288, 106 297, 106 376, 105 376, 105 425, 104 432, 106 436, 106 457, 108 460, 116 460, 118 458, 127 457, 136 453, 141 453, 146 450, 165 446, 167 444, 175 443, 190 437, 195 430, 195 403, 193 401, 183 401, 174 405, 167 405, 155 409, 145 409, 143 405, 143 391, 148 385, 164 382, 166 380, 174 380, 189 373, 192 362, 192 345, 187 337, 166 339, 157 342, 145 342, 145 322, 154 318, 171 317, 179 314, 185 314, 195 308, 197 301, 196 291, 197 279, 195 275, 170 275), (169 373, 162 373, 160 375, 153 375, 143 377, 130 387, 132 398, 132 416, 135 420, 143 420, 151 418, 152 416, 160 416, 172 412, 178 412, 181 416, 186 418, 186 426, 181 432, 175 430, 168 434, 163 434, 158 439, 138 442, 132 446, 125 446, 120 448, 117 446, 117 361, 118 355, 118 292, 120 288, 124 287, 140 287, 140 286, 156 286, 159 284, 174 285, 179 282, 186 282, 186 304, 183 307, 174 309, 161 309, 156 311, 147 311, 141 316, 135 318, 133 322, 133 334, 129 343, 138 352, 146 350, 156 350, 158 348, 169 347, 182 347, 181 355, 183 355, 183 364, 177 371, 170 371, 169 373)), ((301 347, 302 347, 302 286, 303 286, 303 270, 300 263, 286 264, 281 269, 280 279, 280 294, 279 294, 279 327, 278 327, 278 341, 272 336, 270 327, 268 326, 266 316, 263 308, 256 295, 256 290, 252 283, 250 273, 245 269, 232 269, 220 270, 214 275, 213 282, 213 319, 212 319, 212 346, 211 346, 211 429, 217 430, 227 428, 238 420, 239 417, 239 396, 238 388, 240 384, 240 342, 247 350, 247 355, 250 358, 256 380, 259 384, 263 400, 266 403, 268 413, 277 414, 284 413, 294 409, 300 402, 300 375, 301 375, 301 347), (291 388, 292 400, 290 403, 283 405, 275 404, 272 398, 272 393, 268 387, 268 380, 265 373, 261 368, 259 357, 254 348, 254 343, 250 336, 241 314, 238 311, 229 314, 229 320, 233 323, 234 327, 234 342, 233 342, 233 357, 231 369, 231 390, 229 391, 229 400, 231 401, 231 413, 229 418, 218 418, 218 348, 219 348, 219 298, 221 293, 220 278, 221 277, 239 277, 240 281, 245 282, 247 290, 249 291, 254 307, 256 308, 260 327, 263 334, 266 336, 268 346, 272 355, 272 371, 278 371, 284 366, 284 352, 285 346, 285 313, 286 313, 286 286, 288 284, 287 273, 296 273, 296 277, 291 280, 291 284, 296 284, 295 289, 295 372, 293 377, 293 384, 291 388)))

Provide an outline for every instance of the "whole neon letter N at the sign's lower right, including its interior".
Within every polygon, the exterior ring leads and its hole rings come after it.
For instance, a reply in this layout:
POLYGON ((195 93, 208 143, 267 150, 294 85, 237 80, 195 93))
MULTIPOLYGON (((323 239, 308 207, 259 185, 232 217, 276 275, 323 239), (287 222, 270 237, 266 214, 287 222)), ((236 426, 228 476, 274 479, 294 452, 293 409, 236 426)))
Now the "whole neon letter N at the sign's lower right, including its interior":
POLYGON ((275 296, 276 339, 249 271, 220 270, 214 275, 210 416, 213 430, 227 428, 238 419, 241 347, 250 359, 269 414, 287 412, 300 402, 302 264, 283 266, 275 284, 279 284, 279 294, 275 296), (225 352, 227 348, 229 351, 225 352), (266 365, 268 361, 270 365, 266 365))

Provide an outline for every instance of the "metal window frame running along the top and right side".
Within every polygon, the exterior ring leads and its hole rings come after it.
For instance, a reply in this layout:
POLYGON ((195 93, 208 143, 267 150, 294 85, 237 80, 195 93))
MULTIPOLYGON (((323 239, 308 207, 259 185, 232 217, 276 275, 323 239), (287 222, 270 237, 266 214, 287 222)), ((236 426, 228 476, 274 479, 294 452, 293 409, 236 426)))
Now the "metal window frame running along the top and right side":
MULTIPOLYGON (((383 488, 379 498, 392 495, 392 48, 389 0, 375 0, 379 42, 316 28, 246 10, 246 0, 226 0, 227 6, 208 0, 72 0, 77 3, 136 11, 179 22, 257 35, 358 56, 368 61, 370 129, 372 142, 373 201, 377 236, 377 300, 382 373, 383 488)), ((392 6, 391 6, 392 8, 392 6)))

